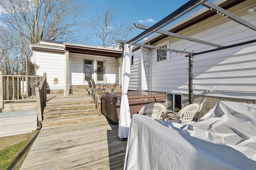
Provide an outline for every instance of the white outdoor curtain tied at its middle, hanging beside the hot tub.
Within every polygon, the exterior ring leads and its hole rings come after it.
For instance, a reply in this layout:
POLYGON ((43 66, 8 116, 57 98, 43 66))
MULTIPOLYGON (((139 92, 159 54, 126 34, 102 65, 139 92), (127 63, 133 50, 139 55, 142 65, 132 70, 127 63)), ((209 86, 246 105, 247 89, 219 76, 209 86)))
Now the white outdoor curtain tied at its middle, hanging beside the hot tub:
POLYGON ((127 97, 128 85, 130 81, 131 72, 131 59, 132 58, 132 47, 128 47, 128 44, 124 44, 123 64, 122 64, 122 79, 121 79, 121 90, 122 97, 120 103, 119 113, 119 127, 118 137, 124 139, 128 137, 129 127, 131 122, 130 108, 127 97))

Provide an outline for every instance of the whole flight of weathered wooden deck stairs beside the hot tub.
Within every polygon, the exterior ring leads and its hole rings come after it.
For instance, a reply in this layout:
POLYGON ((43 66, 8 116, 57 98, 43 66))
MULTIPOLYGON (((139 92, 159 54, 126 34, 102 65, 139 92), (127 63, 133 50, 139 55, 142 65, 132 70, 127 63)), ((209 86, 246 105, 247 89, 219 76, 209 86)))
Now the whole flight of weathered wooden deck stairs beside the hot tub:
POLYGON ((42 127, 98 120, 94 100, 87 95, 56 96, 46 102, 42 127))

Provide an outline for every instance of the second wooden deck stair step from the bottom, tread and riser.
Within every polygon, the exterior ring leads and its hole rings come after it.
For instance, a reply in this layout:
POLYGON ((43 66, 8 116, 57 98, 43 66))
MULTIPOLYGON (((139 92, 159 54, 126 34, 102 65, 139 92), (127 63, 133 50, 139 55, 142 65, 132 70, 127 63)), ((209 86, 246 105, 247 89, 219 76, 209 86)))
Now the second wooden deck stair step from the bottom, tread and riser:
POLYGON ((44 113, 44 120, 48 119, 60 119, 60 118, 68 118, 68 117, 81 117, 87 115, 97 115, 96 109, 87 109, 87 110, 76 110, 76 111, 63 111, 61 113, 51 112, 44 113))

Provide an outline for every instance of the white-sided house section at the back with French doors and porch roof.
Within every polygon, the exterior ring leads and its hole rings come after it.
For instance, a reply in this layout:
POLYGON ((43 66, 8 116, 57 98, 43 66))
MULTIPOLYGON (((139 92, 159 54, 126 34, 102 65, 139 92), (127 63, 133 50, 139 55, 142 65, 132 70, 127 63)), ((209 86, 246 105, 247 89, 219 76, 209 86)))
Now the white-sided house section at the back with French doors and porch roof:
POLYGON ((30 45, 36 75, 47 75, 48 91, 68 96, 72 86, 86 86, 87 79, 97 84, 119 84, 121 49, 44 40, 30 45))

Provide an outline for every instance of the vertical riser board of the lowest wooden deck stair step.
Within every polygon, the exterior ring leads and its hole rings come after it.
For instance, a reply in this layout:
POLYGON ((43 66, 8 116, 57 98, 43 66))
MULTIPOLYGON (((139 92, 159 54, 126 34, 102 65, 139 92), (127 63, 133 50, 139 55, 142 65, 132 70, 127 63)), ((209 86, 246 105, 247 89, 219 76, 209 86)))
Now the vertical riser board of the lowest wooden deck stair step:
POLYGON ((57 121, 57 122, 48 122, 44 123, 42 122, 42 127, 50 127, 50 126, 58 126, 58 125, 68 125, 68 124, 74 124, 74 123, 82 123, 87 121, 96 121, 99 117, 86 117, 82 119, 73 119, 73 120, 65 120, 65 121, 57 121))

